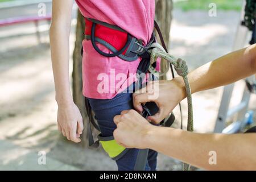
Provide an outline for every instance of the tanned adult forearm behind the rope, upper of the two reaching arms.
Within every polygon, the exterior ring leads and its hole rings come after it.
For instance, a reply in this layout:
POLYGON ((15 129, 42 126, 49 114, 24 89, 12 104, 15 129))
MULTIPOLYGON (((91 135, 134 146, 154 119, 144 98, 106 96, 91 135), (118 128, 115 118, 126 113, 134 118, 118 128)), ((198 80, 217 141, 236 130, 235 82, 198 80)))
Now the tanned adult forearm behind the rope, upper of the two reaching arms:
MULTIPOLYGON (((256 44, 222 56, 188 75, 192 93, 228 85, 256 73, 256 44)), ((176 78, 184 87, 183 80, 176 78)), ((185 92, 185 89, 183 89, 185 92)), ((185 94, 184 94, 185 96, 185 94)))

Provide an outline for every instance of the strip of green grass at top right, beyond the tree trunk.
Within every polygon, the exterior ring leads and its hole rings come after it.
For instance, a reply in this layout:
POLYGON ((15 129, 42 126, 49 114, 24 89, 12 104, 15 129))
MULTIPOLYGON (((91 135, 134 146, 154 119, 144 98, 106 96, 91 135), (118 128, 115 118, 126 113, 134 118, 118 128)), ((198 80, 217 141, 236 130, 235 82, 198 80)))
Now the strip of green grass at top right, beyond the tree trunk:
POLYGON ((209 4, 216 3, 217 10, 240 11, 243 0, 174 0, 174 8, 188 10, 209 10, 209 4))

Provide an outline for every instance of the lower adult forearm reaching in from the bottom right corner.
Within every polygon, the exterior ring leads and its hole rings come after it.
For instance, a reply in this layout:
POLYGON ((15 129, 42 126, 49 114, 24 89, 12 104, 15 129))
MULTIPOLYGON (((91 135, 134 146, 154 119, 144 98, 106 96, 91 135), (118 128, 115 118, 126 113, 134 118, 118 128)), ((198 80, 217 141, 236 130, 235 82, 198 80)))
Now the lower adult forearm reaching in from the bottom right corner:
POLYGON ((144 138, 148 148, 192 166, 209 169, 256 169, 255 134, 198 134, 167 127, 152 127, 144 138), (216 164, 210 164, 216 152, 216 164))

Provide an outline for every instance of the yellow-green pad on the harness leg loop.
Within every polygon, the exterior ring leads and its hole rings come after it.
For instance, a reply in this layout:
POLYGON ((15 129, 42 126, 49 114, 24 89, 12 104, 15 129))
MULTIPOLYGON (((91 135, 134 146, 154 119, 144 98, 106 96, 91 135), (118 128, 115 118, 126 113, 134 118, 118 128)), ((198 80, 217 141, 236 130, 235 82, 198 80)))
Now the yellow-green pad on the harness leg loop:
POLYGON ((115 140, 100 141, 100 143, 110 158, 115 158, 125 150, 125 147, 117 144, 115 140))

